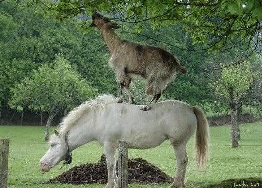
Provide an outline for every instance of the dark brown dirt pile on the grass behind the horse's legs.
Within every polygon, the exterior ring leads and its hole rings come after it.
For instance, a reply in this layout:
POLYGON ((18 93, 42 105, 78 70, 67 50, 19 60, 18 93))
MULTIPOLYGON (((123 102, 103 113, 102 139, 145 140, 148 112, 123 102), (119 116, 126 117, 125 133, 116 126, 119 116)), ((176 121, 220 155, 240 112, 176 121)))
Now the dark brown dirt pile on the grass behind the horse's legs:
MULTIPOLYGON (((118 171, 118 162, 116 165, 118 171)), ((117 172, 118 174, 118 172, 117 172)), ((107 168, 105 156, 95 164, 85 164, 73 167, 48 183, 71 183, 71 184, 92 184, 107 183, 107 168)), ((173 178, 165 174, 155 165, 148 163, 142 158, 128 159, 128 182, 138 183, 171 183, 173 178)))

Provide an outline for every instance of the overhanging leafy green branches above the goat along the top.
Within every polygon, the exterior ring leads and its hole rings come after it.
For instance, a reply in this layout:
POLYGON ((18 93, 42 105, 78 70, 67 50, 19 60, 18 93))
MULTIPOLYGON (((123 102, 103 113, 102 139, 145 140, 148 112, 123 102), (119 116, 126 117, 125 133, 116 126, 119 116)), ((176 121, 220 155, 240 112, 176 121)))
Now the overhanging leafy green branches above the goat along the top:
MULTIPOLYGON (((8 1, 8 0, 2 0, 8 1)), ((17 3, 23 3, 17 0, 17 3)), ((122 31, 140 33, 148 22, 152 29, 182 24, 194 48, 184 50, 227 51, 243 47, 240 63, 257 50, 261 51, 261 0, 28 0, 40 10, 63 20, 81 16, 86 19, 98 11, 120 22, 122 31), (127 25, 131 25, 127 26, 127 25), (204 45, 198 45, 198 44, 204 45)), ((150 37, 150 36, 148 36, 150 37)), ((158 40, 158 38, 155 38, 158 40)), ((174 45, 170 41, 162 41, 174 45)), ((179 46, 176 46, 181 48, 179 46)))

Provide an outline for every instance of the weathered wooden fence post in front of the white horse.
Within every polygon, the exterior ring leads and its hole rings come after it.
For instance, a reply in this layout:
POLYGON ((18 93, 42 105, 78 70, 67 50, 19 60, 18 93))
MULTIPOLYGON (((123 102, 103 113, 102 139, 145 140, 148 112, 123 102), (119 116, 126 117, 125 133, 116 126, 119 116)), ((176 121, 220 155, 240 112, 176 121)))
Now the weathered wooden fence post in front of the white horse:
POLYGON ((128 143, 118 142, 118 188, 128 188, 128 143))

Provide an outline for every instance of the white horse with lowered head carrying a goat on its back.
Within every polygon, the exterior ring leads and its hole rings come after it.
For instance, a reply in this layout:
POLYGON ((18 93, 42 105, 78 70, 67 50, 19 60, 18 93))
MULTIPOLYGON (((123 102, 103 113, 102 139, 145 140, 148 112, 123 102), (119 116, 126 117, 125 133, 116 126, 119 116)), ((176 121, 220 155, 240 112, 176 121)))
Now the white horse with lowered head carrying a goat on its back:
POLYGON ((48 172, 64 159, 70 163, 71 151, 97 140, 104 147, 107 159, 105 188, 116 188, 116 162, 112 159, 118 141, 128 142, 128 148, 148 149, 169 139, 177 160, 177 173, 170 188, 184 187, 186 143, 195 129, 197 165, 204 166, 207 160, 209 126, 202 110, 181 101, 167 100, 157 103, 152 110, 141 111, 141 106, 117 101, 112 95, 102 95, 72 110, 49 139, 50 148, 40 160, 40 169, 48 172))

